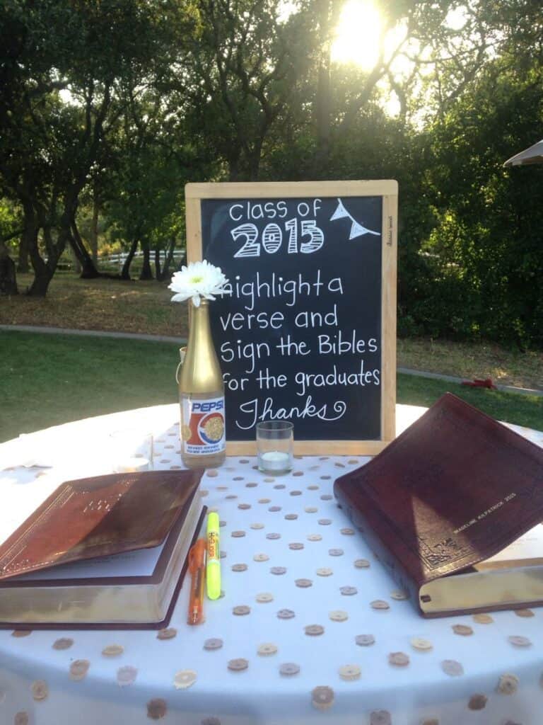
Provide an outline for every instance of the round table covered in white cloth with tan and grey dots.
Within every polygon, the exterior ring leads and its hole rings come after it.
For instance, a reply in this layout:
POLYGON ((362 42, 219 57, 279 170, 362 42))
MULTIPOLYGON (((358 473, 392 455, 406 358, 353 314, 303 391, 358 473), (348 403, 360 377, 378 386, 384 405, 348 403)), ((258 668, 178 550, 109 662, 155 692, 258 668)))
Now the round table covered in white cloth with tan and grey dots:
MULTIPOLYGON (((422 412, 398 405, 398 432, 422 412)), ((177 415, 143 408, 2 444, 3 500, 23 521, 60 480, 104 472, 125 426, 153 431, 155 468, 179 467, 177 415)), ((185 624, 185 584, 167 633, 0 631, 1 724, 541 725, 543 609, 421 618, 334 502, 334 479, 367 460, 298 457, 277 479, 251 457, 206 471, 224 596, 205 623, 185 624)))

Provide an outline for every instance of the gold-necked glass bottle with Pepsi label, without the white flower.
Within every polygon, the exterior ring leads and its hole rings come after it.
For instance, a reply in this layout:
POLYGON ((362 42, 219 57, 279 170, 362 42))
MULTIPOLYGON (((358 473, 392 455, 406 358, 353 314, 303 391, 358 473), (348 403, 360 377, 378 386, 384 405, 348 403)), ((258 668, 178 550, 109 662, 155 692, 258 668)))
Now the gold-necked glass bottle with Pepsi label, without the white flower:
POLYGON ((209 302, 189 302, 187 350, 179 376, 181 457, 188 468, 213 468, 226 455, 224 383, 211 338, 209 302))

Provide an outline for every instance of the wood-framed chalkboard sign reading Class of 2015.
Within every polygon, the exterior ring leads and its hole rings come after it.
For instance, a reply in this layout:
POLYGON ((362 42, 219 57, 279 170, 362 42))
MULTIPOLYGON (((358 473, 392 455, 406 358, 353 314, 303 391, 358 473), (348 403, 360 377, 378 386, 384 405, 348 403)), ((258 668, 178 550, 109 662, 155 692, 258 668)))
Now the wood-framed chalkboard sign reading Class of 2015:
POLYGON ((210 305, 227 452, 258 421, 303 454, 373 455, 395 436, 396 181, 190 183, 188 260, 230 281, 210 305))

